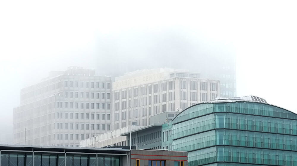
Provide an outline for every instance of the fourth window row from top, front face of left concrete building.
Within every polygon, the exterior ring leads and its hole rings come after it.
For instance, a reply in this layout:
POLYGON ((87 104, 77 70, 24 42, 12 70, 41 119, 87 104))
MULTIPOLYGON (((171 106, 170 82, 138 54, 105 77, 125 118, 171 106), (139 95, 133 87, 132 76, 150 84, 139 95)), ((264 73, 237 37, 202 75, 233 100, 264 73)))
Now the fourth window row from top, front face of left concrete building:
MULTIPOLYGON (((57 112, 56 115, 57 115, 57 119, 60 119, 60 118, 68 119, 68 115, 69 115, 70 119, 74 119, 74 115, 75 115, 75 119, 92 119, 92 120, 95 119, 95 115, 96 115, 97 120, 105 120, 105 114, 101 114, 101 119, 100 119, 100 114, 89 114, 89 113, 68 113, 68 112, 65 112, 64 116, 63 116, 63 112, 57 112)), ((110 120, 110 114, 106 114, 106 120, 110 120)))

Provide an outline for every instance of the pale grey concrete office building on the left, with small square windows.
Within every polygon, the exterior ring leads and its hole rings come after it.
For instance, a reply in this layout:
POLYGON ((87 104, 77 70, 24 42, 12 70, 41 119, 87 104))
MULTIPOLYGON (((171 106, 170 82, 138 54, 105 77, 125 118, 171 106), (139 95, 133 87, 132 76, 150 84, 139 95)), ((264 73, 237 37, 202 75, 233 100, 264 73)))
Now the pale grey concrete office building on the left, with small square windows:
POLYGON ((111 79, 95 70, 69 67, 23 88, 14 108, 14 143, 79 146, 80 140, 111 131, 111 79))

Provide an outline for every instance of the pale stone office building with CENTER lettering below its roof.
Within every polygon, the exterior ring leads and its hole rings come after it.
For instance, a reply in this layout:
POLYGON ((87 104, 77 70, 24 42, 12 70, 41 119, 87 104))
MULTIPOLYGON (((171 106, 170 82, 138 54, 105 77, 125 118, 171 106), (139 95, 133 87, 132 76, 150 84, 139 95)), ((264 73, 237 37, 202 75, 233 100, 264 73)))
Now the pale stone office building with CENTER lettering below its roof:
POLYGON ((113 129, 136 122, 147 126, 149 117, 184 110, 220 94, 218 80, 200 78, 188 70, 144 69, 116 77, 112 88, 113 129))

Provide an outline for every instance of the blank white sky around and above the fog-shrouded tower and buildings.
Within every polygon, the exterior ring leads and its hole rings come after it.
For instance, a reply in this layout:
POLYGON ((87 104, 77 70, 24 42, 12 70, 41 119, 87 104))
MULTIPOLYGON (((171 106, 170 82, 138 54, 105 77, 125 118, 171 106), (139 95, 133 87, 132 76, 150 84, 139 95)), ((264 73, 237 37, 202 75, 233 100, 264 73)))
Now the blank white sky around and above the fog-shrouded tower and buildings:
POLYGON ((0 124, 48 71, 95 68, 99 34, 170 28, 232 43, 238 96, 297 112, 296 16, 295 1, 1 1, 0 124))

